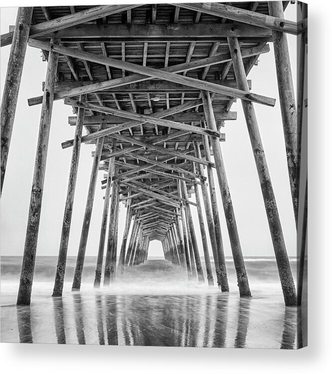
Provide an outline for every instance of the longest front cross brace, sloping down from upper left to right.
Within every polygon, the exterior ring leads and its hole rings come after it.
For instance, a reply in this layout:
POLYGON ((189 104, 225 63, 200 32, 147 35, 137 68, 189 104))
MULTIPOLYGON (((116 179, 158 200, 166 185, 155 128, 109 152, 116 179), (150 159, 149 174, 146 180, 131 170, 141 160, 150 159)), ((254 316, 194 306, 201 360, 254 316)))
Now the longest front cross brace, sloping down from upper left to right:
MULTIPOLYGON (((109 66, 112 66, 118 69, 129 70, 134 73, 144 74, 146 76, 150 76, 153 78, 159 78, 159 79, 164 79, 164 80, 174 82, 174 83, 184 84, 187 86, 193 86, 193 87, 196 87, 197 89, 209 90, 211 92, 223 94, 223 95, 230 96, 230 97, 241 98, 243 100, 247 100, 250 102, 255 102, 255 103, 268 105, 268 106, 275 105, 275 99, 273 98, 266 97, 263 95, 258 95, 252 92, 245 92, 237 88, 215 85, 213 83, 201 81, 201 80, 183 76, 183 75, 173 74, 173 73, 166 71, 166 69, 169 69, 169 68, 155 69, 155 68, 151 68, 147 66, 140 66, 140 65, 128 62, 128 61, 120 61, 115 58, 110 58, 110 57, 105 57, 101 55, 96 55, 93 53, 83 52, 83 51, 76 50, 73 48, 52 45, 50 43, 40 42, 35 39, 29 39, 28 45, 34 48, 41 48, 45 50, 54 49, 54 51, 67 55, 67 56, 80 58, 82 60, 87 60, 90 62, 102 64, 102 65, 109 65, 109 66)), ((211 60, 213 58, 214 57, 208 57, 206 60, 208 59, 211 60)), ((186 62, 186 64, 189 64, 189 62, 186 62)), ((187 69, 183 69, 183 71, 185 70, 187 69)))

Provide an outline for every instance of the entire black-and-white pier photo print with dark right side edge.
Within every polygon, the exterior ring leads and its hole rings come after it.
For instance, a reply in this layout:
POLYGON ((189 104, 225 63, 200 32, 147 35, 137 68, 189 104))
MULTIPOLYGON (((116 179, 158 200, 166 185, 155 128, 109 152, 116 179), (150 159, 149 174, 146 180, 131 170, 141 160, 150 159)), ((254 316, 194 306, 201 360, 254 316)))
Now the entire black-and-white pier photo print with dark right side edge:
POLYGON ((1 342, 307 345, 306 20, 1 8, 1 342))

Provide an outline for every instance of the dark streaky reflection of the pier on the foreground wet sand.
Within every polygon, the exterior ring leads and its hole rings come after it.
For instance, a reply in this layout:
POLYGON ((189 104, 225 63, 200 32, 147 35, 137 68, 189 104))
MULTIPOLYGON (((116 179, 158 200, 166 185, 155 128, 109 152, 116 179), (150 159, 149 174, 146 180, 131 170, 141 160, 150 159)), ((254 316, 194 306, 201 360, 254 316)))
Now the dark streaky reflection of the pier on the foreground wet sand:
MULTIPOLYGON (((51 343, 66 344, 74 339, 78 344, 246 348, 252 346, 248 344, 248 334, 252 334, 254 325, 250 329, 249 322, 252 320, 255 324, 260 318, 257 306, 252 310, 253 303, 253 299, 217 292, 189 295, 71 293, 65 298, 52 298, 55 334, 51 343), (72 313, 73 318, 70 317, 72 313), (70 331, 76 332, 75 337, 70 331)), ((274 339, 275 345, 267 348, 277 348, 279 341, 279 348, 294 349, 297 309, 285 308, 282 313, 279 312, 279 320, 283 319, 279 330, 267 336, 256 324, 251 342, 257 337, 267 342, 274 339)), ((31 318, 38 316, 34 308, 17 307, 20 343, 33 343, 34 329, 35 342, 40 339, 39 327, 31 326, 31 318)), ((269 342, 273 344, 272 340, 269 342)))

